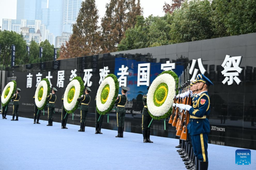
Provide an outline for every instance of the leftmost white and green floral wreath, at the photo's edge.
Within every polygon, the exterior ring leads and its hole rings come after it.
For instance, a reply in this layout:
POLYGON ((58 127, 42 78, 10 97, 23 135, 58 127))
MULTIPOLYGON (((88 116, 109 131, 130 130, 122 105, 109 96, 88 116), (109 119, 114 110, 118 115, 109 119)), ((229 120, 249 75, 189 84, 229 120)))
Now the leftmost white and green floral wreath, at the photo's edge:
POLYGON ((12 99, 13 94, 15 93, 16 90, 16 81, 13 80, 9 82, 3 89, 3 93, 1 96, 1 101, 3 107, 9 104, 10 100, 12 99))

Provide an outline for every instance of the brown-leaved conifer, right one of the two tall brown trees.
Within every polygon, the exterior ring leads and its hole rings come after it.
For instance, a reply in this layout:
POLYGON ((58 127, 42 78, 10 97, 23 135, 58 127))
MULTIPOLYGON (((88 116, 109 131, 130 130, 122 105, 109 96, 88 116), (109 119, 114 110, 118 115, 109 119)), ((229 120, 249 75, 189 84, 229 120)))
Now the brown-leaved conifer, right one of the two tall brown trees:
POLYGON ((102 18, 102 50, 104 53, 116 51, 125 31, 136 24, 136 16, 142 14, 140 0, 111 0, 106 5, 102 18))

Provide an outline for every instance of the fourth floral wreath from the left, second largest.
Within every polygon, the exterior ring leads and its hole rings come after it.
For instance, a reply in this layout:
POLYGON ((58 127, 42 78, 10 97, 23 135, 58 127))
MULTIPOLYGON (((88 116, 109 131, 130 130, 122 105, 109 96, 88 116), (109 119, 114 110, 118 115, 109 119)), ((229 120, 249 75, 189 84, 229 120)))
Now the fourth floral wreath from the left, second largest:
POLYGON ((119 85, 114 74, 109 74, 99 86, 96 95, 96 110, 100 115, 109 113, 118 96, 119 85))

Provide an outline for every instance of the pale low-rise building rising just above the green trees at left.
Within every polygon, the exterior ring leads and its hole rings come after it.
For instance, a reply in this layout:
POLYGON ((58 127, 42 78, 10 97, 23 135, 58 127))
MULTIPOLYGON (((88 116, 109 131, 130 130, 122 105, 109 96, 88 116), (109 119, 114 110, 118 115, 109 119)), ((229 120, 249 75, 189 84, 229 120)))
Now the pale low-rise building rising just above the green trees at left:
POLYGON ((42 35, 39 29, 37 30, 36 33, 35 33, 35 28, 21 27, 20 30, 27 44, 30 44, 32 40, 34 40, 38 44, 42 41, 42 35))

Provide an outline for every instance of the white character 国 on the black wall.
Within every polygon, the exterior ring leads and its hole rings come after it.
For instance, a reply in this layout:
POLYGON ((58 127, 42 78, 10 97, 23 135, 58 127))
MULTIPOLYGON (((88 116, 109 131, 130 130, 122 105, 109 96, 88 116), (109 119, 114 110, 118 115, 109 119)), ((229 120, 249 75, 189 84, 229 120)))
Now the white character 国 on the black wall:
POLYGON ((138 81, 137 86, 149 86, 150 63, 138 64, 138 81))

